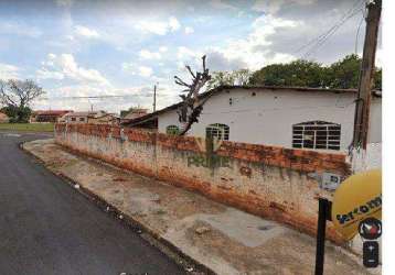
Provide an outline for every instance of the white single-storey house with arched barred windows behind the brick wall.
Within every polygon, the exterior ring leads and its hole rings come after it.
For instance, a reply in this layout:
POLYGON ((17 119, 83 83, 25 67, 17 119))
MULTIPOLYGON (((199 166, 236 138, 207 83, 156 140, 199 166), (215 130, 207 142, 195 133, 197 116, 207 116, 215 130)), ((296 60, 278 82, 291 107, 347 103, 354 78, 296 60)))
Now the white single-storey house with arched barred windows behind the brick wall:
MULTIPOLYGON (((345 151, 352 142, 355 89, 221 86, 200 97, 209 99, 188 135, 334 151, 345 151)), ((181 103, 172 105, 124 125, 177 134, 182 129, 180 108, 181 103)), ((381 92, 374 91, 370 143, 382 141, 381 108, 381 92)))

